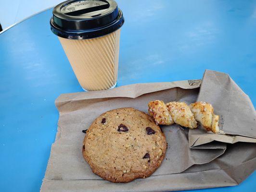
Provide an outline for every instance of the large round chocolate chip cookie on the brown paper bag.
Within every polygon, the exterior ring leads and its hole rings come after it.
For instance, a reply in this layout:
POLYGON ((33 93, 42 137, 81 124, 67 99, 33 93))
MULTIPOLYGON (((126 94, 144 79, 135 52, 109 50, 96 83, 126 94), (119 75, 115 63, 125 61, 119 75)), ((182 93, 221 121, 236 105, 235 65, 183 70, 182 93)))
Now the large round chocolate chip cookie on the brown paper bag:
POLYGON ((149 177, 163 161, 166 138, 147 114, 134 108, 117 108, 90 125, 83 156, 104 180, 129 182, 149 177))

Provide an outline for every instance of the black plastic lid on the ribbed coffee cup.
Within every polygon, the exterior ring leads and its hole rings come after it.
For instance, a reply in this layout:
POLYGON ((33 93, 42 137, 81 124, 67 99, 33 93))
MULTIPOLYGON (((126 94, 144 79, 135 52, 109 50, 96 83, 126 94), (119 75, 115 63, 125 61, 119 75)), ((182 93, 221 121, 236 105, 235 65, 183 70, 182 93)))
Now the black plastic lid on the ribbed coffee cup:
POLYGON ((67 0, 52 11, 51 31, 68 39, 104 36, 124 24, 114 0, 67 0))

